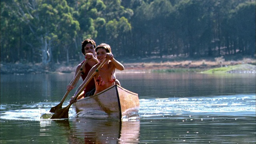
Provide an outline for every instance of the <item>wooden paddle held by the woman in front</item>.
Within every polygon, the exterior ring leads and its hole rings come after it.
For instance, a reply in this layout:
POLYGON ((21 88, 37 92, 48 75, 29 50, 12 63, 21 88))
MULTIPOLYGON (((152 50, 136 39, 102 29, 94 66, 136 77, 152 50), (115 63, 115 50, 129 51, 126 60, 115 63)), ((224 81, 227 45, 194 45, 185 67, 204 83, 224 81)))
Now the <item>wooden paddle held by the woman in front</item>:
MULTIPOLYGON (((98 66, 98 68, 95 70, 95 72, 90 76, 90 78, 86 81, 86 83, 84 84, 84 86, 79 90, 79 92, 76 94, 76 96, 74 96, 74 100, 76 100, 76 98, 79 96, 79 94, 84 90, 84 88, 88 85, 88 83, 90 82, 90 80, 92 80, 93 76, 100 70, 100 68, 102 68, 102 66, 105 64, 105 62, 108 59, 106 58, 101 64, 100 66, 98 66)), ((68 106, 66 106, 65 108, 60 108, 57 109, 55 111, 55 113, 52 115, 51 119, 60 119, 60 118, 68 118, 68 111, 70 106, 72 105, 72 103, 69 103, 68 106)))

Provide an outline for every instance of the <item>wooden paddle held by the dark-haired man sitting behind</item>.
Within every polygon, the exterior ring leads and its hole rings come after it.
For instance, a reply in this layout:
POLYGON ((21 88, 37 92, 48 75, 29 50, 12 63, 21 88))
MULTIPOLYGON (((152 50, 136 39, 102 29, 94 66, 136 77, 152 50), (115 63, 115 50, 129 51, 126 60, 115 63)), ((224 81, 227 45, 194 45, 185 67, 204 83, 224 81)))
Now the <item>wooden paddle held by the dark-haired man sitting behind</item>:
MULTIPOLYGON (((84 61, 84 63, 82 64, 82 66, 81 66, 81 68, 80 68, 80 71, 76 74, 75 79, 74 79, 73 82, 71 83, 71 86, 74 86, 74 83, 75 83, 75 82, 78 80, 78 78, 80 77, 80 74, 81 74, 81 72, 82 72, 82 70, 83 70, 83 68, 84 68, 84 66, 85 66, 85 64, 86 64, 87 62, 88 62, 88 59, 86 59, 86 60, 84 61)), ((51 110, 50 110, 50 112, 55 112, 57 109, 62 108, 62 104, 63 104, 64 100, 66 99, 66 97, 68 96, 68 93, 69 93, 69 92, 70 92, 70 90, 67 90, 67 92, 66 92, 66 94, 63 96, 63 98, 62 98, 60 104, 58 104, 57 106, 52 107, 51 110)))

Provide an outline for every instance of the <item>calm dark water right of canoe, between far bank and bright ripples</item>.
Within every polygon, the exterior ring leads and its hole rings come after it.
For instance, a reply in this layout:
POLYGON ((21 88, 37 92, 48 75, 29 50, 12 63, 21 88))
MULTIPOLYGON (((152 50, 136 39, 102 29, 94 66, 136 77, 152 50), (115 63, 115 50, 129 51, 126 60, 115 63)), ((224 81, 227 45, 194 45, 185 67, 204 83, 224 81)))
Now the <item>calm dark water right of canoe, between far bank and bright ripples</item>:
POLYGON ((127 74, 122 86, 137 92, 139 98, 173 98, 255 94, 255 74, 127 74))

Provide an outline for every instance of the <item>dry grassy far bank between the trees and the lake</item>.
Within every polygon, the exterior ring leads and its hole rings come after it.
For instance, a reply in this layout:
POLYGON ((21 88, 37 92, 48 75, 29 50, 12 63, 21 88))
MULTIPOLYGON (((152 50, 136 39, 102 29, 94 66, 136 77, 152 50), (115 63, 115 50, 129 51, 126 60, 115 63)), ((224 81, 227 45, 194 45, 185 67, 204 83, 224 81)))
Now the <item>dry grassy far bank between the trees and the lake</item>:
MULTIPOLYGON (((186 60, 179 58, 159 59, 148 58, 141 60, 120 60, 124 64, 125 70, 118 71, 118 73, 162 73, 162 72, 203 72, 203 73, 219 73, 219 72, 242 72, 255 71, 255 59, 243 58, 242 60, 225 60, 224 58, 212 59, 200 59, 200 60, 186 60), (251 64, 236 68, 239 64, 251 64), (234 66, 234 67, 229 67, 234 66), (247 68, 250 67, 250 70, 247 68), (216 68, 216 69, 215 69, 216 68), (214 70, 211 70, 214 69, 214 70), (229 70, 230 69, 230 70, 229 70), (233 70, 233 71, 232 71, 233 70)), ((42 64, 22 64, 16 63, 2 63, 1 62, 1 74, 45 74, 45 73, 72 73, 75 71, 76 66, 80 62, 73 62, 72 64, 52 64, 43 66, 42 64)))

